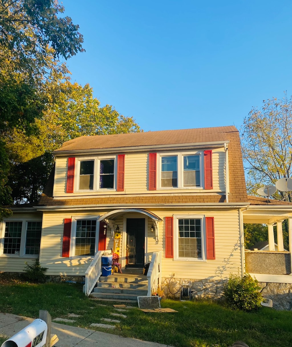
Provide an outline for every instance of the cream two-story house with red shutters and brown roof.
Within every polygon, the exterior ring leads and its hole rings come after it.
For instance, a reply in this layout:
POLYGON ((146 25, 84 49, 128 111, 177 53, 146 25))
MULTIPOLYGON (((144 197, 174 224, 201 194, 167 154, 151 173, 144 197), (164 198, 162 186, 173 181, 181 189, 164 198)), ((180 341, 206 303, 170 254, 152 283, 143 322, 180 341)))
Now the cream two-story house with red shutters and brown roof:
POLYGON ((170 280, 170 290, 188 280, 215 293, 245 272, 245 218, 277 223, 283 251, 280 221, 292 206, 247 196, 234 126, 81 136, 54 155, 39 204, 1 223, 1 271, 39 256, 50 276, 86 276, 89 294, 112 248, 123 271, 151 262, 149 293, 170 280))

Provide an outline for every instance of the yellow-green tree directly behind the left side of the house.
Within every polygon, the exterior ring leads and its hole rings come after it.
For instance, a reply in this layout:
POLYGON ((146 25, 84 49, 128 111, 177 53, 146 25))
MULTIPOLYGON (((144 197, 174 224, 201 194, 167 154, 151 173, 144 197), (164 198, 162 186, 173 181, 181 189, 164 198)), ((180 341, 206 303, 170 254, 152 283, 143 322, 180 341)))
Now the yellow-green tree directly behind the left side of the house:
POLYGON ((84 135, 140 132, 133 117, 120 115, 111 105, 100 107, 92 88, 70 81, 47 82, 43 117, 35 120, 37 133, 15 129, 7 148, 14 169, 9 176, 15 202, 36 203, 53 166, 52 151, 63 142, 84 135))

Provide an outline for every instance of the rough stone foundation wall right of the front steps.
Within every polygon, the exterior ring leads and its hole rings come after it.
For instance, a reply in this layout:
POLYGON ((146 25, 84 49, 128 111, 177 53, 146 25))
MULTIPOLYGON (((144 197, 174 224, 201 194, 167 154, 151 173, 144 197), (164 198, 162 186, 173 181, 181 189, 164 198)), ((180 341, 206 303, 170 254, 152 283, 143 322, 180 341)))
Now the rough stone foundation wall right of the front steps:
MULTIPOLYGON (((222 299, 223 285, 226 280, 164 278, 162 279, 161 288, 166 297, 177 299, 180 297, 182 285, 188 287, 189 281, 191 281, 192 299, 222 299)), ((263 297, 273 300, 275 310, 292 311, 292 284, 259 282, 259 286, 262 288, 263 297)))

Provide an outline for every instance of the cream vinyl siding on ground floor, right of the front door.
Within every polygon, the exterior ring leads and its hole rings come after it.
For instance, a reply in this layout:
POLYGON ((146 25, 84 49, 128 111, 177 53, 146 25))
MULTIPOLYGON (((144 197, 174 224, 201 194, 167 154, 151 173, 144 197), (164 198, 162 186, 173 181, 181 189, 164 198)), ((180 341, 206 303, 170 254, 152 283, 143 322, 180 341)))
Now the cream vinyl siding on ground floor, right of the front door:
MULTIPOLYGON (((239 211, 238 210, 197 210, 197 211, 175 211, 169 213, 163 211, 152 211, 163 218, 159 223, 159 244, 155 240, 148 240, 148 252, 162 250, 162 277, 171 277, 175 273, 175 278, 189 279, 226 279, 230 273, 241 273, 241 249, 239 232, 239 211), (165 217, 172 217, 172 214, 184 215, 205 215, 214 217, 215 229, 215 260, 206 261, 179 261, 165 258, 165 217), (163 235, 163 237, 162 237, 163 235)), ((175 220, 174 220, 175 223, 175 220)), ((204 234, 204 243, 205 243, 204 234)), ((174 238, 174 247, 177 240, 174 238)))

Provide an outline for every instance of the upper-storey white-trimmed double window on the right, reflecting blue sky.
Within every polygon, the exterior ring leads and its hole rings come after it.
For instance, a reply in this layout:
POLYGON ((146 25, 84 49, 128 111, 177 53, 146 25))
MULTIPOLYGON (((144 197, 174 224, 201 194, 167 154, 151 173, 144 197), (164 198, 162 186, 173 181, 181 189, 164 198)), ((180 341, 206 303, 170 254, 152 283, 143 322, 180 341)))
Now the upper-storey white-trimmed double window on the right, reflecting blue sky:
POLYGON ((203 152, 160 154, 160 189, 202 188, 203 152))

